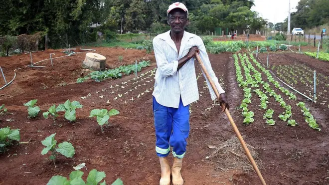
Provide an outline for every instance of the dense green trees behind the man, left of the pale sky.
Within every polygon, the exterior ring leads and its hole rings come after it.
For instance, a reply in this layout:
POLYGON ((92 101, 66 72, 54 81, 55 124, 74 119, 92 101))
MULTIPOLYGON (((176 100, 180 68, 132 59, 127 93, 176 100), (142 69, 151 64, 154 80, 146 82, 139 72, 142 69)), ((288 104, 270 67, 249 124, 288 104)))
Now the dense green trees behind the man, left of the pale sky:
MULTIPOLYGON (((123 20, 124 32, 152 32, 169 29, 166 10, 176 0, 7 0, 0 3, 0 37, 42 32, 48 47, 95 42, 97 32, 115 40, 123 20), (123 18, 123 19, 122 19, 123 18), (91 28, 91 24, 101 26, 91 28)), ((263 27, 266 20, 251 10, 253 0, 182 0, 189 9, 187 31, 213 32, 216 27, 234 30, 263 27)), ((44 37, 42 37, 44 38, 44 37)), ((39 47, 44 46, 44 39, 39 47)))

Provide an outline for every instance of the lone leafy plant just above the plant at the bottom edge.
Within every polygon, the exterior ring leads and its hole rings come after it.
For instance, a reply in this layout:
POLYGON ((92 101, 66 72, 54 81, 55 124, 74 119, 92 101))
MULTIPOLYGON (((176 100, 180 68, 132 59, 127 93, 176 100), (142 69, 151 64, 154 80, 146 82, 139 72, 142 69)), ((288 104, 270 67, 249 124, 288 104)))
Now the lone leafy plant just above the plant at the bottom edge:
POLYGON ((43 141, 41 141, 42 145, 45 146, 45 148, 41 151, 41 155, 45 155, 50 151, 51 155, 49 156, 49 159, 53 161, 54 165, 58 153, 67 158, 72 158, 75 154, 74 147, 69 142, 60 143, 56 148, 57 141, 55 140, 55 135, 56 133, 46 137, 43 141))

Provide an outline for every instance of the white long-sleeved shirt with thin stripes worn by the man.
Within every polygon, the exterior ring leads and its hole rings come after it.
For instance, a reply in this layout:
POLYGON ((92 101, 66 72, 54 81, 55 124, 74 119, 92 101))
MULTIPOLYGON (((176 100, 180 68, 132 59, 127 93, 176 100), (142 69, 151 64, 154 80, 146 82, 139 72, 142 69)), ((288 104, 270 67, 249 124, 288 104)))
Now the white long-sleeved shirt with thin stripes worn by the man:
MULTIPOLYGON (((170 37, 169 30, 165 33, 159 34, 153 39, 154 53, 158 65, 153 96, 159 104, 165 107, 178 108, 180 98, 184 106, 199 99, 194 58, 187 61, 177 71, 178 60, 184 57, 193 46, 199 48, 200 57, 204 62, 204 66, 206 67, 211 79, 215 83, 219 94, 225 92, 219 85, 218 79, 211 68, 202 39, 195 34, 184 31, 179 53, 177 53, 176 45, 170 37)), ((203 76, 205 77, 204 73, 203 76)), ((206 81, 211 99, 217 99, 209 81, 207 79, 206 81)))

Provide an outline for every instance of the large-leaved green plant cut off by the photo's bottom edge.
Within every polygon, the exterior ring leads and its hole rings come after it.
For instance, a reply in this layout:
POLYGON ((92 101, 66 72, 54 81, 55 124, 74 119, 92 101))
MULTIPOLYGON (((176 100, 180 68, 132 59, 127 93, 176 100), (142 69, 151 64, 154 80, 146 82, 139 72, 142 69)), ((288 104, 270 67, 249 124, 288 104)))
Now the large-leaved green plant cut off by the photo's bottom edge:
MULTIPOLYGON (((105 180, 103 183, 100 183, 106 177, 105 172, 99 172, 95 169, 91 170, 88 174, 87 182, 83 181, 83 174, 80 170, 73 171, 69 180, 63 176, 53 176, 47 185, 106 185, 105 180)), ((123 182, 118 178, 112 185, 123 185, 123 182)))

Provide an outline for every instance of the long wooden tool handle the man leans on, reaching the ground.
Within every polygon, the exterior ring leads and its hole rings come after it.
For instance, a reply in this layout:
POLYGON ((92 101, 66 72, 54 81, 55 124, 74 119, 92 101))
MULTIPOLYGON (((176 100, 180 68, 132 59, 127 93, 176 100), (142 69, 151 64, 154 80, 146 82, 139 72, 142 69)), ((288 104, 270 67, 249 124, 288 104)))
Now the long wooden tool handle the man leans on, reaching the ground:
MULTIPOLYGON (((203 62, 202 62, 202 60, 201 60, 200 55, 199 55, 198 53, 195 53, 195 58, 196 58, 196 60, 199 62, 199 64, 200 64, 200 66, 201 66, 201 68, 202 68, 202 70, 203 70, 205 76, 207 77, 207 79, 208 79, 208 81, 209 81, 209 83, 210 83, 212 89, 213 89, 214 92, 216 93, 217 98, 220 100, 220 96, 219 96, 218 90, 217 90, 217 88, 216 88, 214 82, 213 82, 212 79, 210 78, 210 75, 209 75, 208 71, 206 70, 205 66, 203 65, 203 62)), ((258 169, 258 167, 257 167, 257 165, 256 165, 256 163, 255 163, 254 158, 251 156, 250 151, 249 151, 249 149, 248 149, 246 143, 244 142, 244 140, 243 140, 243 138, 242 138, 242 136, 241 136, 241 134, 240 134, 238 128, 236 127, 236 125, 235 125, 235 123, 234 123, 234 121, 233 121, 233 118, 232 118, 230 112, 229 112, 227 109, 225 109, 225 114, 226 114, 228 120, 230 121, 230 123, 231 123, 231 125, 232 125, 232 127, 233 127, 233 130, 234 130, 236 136, 238 137, 238 139, 239 139, 239 141, 240 141, 240 143, 241 143, 241 145, 242 145, 244 151, 246 152, 246 154, 247 154, 247 156, 248 156, 248 159, 249 159, 250 163, 252 164, 254 170, 256 171, 257 176, 259 177, 260 181, 262 182, 262 185, 266 185, 266 183, 265 183, 265 181, 264 181, 264 179, 263 179, 263 176, 262 176, 262 174, 260 173, 260 171, 259 171, 259 169, 258 169)))

